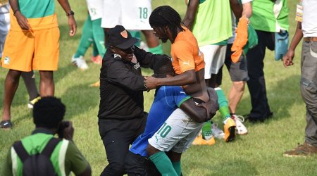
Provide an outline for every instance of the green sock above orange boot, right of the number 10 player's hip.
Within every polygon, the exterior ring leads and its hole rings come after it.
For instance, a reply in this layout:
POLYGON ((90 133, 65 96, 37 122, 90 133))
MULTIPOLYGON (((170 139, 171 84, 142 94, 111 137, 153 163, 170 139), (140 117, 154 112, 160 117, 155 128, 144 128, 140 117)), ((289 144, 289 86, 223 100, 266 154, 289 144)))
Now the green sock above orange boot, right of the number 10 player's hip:
POLYGON ((216 87, 215 90, 218 96, 219 112, 224 122, 227 118, 231 117, 228 101, 227 99, 225 99, 225 94, 223 93, 223 90, 220 87, 216 87))

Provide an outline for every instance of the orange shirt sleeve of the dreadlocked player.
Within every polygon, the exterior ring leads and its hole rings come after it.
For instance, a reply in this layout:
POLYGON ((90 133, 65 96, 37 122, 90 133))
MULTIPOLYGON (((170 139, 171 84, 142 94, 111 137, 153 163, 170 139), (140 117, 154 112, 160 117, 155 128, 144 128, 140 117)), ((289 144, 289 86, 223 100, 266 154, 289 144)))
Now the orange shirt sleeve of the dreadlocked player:
POLYGON ((173 59, 178 59, 180 71, 182 73, 195 69, 192 47, 188 42, 178 42, 175 46, 173 46, 173 50, 175 56, 177 57, 173 59))

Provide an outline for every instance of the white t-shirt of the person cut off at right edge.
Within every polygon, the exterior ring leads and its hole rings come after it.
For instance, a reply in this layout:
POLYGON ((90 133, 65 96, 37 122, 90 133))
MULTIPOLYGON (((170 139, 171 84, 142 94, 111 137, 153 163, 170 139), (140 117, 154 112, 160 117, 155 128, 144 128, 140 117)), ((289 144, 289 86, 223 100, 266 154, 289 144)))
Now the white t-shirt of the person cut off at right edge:
POLYGON ((317 37, 317 1, 303 0, 302 31, 304 37, 317 37))

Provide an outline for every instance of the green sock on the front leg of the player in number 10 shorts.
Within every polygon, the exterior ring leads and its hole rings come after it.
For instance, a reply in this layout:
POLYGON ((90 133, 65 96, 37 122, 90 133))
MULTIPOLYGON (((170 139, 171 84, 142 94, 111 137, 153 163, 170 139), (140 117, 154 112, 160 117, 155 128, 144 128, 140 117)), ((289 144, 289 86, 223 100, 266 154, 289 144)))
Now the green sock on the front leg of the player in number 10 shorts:
POLYGON ((149 158, 160 171, 162 176, 178 176, 178 173, 173 168, 170 158, 168 158, 165 152, 159 151, 149 158))

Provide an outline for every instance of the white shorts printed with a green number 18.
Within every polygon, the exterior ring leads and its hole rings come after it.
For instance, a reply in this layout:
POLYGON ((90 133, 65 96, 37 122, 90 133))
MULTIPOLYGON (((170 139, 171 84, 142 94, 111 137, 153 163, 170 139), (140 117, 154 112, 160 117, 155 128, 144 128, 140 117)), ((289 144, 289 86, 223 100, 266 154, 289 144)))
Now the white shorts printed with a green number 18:
POLYGON ((126 30, 153 30, 151 0, 104 0, 101 27, 123 25, 126 30))

